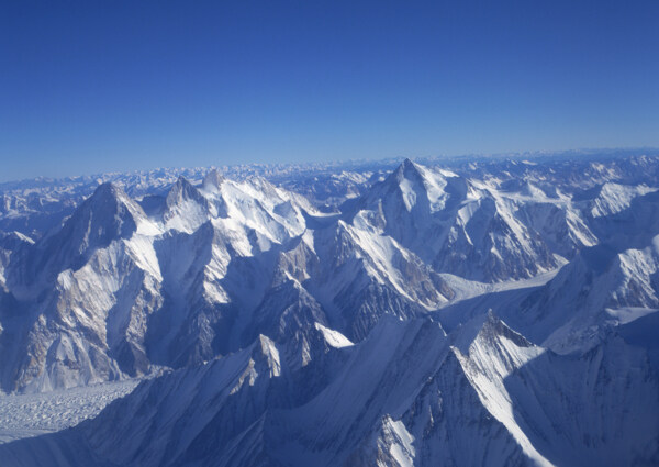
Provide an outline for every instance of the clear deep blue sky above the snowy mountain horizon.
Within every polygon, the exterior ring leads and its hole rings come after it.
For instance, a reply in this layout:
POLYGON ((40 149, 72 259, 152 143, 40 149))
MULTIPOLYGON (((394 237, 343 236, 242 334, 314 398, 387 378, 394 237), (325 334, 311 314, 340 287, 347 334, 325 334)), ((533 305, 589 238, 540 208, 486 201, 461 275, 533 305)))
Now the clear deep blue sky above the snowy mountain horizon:
POLYGON ((659 146, 659 1, 0 0, 0 179, 659 146))

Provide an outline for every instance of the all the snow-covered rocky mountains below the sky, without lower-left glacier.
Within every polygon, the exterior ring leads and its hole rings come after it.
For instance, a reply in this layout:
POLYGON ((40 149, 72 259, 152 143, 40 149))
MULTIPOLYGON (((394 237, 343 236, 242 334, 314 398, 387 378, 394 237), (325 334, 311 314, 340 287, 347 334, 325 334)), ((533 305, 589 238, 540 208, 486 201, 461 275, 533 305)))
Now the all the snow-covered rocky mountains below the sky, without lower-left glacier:
POLYGON ((659 465, 659 155, 422 163, 0 186, 2 464, 659 465))

